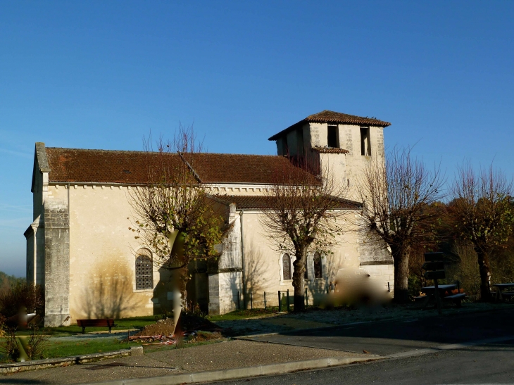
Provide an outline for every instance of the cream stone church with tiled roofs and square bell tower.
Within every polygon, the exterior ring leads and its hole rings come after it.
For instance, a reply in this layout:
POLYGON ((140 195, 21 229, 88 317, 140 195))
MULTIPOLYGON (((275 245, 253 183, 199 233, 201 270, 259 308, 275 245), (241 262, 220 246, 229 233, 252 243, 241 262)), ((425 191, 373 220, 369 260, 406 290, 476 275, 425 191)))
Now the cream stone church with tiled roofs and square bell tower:
MULTIPOLYGON (((383 131, 389 125, 322 111, 270 137, 276 156, 199 154, 192 171, 225 207, 231 226, 217 263, 190 266, 188 301, 209 314, 223 314, 250 303, 276 306, 279 291, 292 295, 294 251, 277 251, 261 225, 263 210, 270 207, 267 189, 278 170, 295 168, 292 160, 308 157, 330 165, 349 190, 339 209, 358 217, 356 180, 370 161, 384 161, 383 131)), ((33 222, 25 231, 27 282, 44 288, 46 326, 170 312, 170 274, 152 263, 151 249, 129 230, 130 189, 144 188, 144 155, 36 143, 33 222)), ((384 291, 393 290, 391 255, 366 247, 357 232, 344 232, 332 254, 308 254, 308 303, 319 301, 344 269, 365 272, 384 291)))

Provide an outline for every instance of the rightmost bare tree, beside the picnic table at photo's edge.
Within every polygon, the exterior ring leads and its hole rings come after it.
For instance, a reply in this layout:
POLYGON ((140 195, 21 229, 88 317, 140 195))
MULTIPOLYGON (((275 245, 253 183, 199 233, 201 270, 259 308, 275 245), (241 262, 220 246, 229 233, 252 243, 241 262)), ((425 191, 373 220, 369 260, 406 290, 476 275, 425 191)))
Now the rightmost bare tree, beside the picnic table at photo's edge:
POLYGON ((491 253, 506 247, 513 232, 512 194, 513 182, 492 165, 476 172, 466 163, 458 169, 451 187, 453 228, 477 253, 483 301, 491 298, 491 253))

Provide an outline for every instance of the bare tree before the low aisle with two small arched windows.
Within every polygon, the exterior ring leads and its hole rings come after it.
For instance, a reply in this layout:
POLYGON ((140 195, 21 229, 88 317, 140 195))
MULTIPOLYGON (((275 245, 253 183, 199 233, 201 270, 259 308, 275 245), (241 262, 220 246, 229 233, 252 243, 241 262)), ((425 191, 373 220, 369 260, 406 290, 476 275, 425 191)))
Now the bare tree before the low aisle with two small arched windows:
POLYGON ((342 209, 358 206, 344 199, 346 189, 328 168, 320 170, 306 159, 296 160, 296 166, 277 173, 267 193, 272 208, 263 211, 262 225, 279 250, 294 250, 294 311, 298 312, 305 310, 308 251, 330 254, 330 246, 342 232, 342 209))

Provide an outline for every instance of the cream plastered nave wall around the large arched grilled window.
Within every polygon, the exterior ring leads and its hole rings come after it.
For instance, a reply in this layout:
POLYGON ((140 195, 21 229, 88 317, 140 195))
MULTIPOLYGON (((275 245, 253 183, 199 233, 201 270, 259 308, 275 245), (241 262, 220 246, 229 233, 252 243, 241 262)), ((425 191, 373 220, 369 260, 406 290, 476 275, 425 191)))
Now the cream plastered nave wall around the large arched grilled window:
MULTIPOLYGON (((135 289, 135 253, 140 245, 128 229, 134 218, 127 187, 71 185, 70 316, 132 317, 170 310, 167 272, 153 268, 153 289, 135 289), (130 219, 127 219, 130 218, 130 219)), ((65 185, 49 186, 48 201, 68 206, 65 185)))

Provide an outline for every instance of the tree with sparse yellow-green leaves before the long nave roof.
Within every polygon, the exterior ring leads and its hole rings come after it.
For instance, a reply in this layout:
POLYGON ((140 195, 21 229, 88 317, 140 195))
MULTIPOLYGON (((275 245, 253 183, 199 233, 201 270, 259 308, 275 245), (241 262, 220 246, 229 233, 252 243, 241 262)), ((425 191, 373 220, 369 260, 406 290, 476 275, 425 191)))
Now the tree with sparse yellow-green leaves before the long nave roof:
POLYGON ((157 151, 150 137, 144 150, 147 179, 144 187, 131 190, 135 220, 129 229, 153 251, 155 265, 178 272, 176 283, 184 294, 189 263, 219 256, 215 245, 221 242, 223 220, 195 171, 201 144, 192 127, 181 125, 173 141, 161 137, 157 151))

